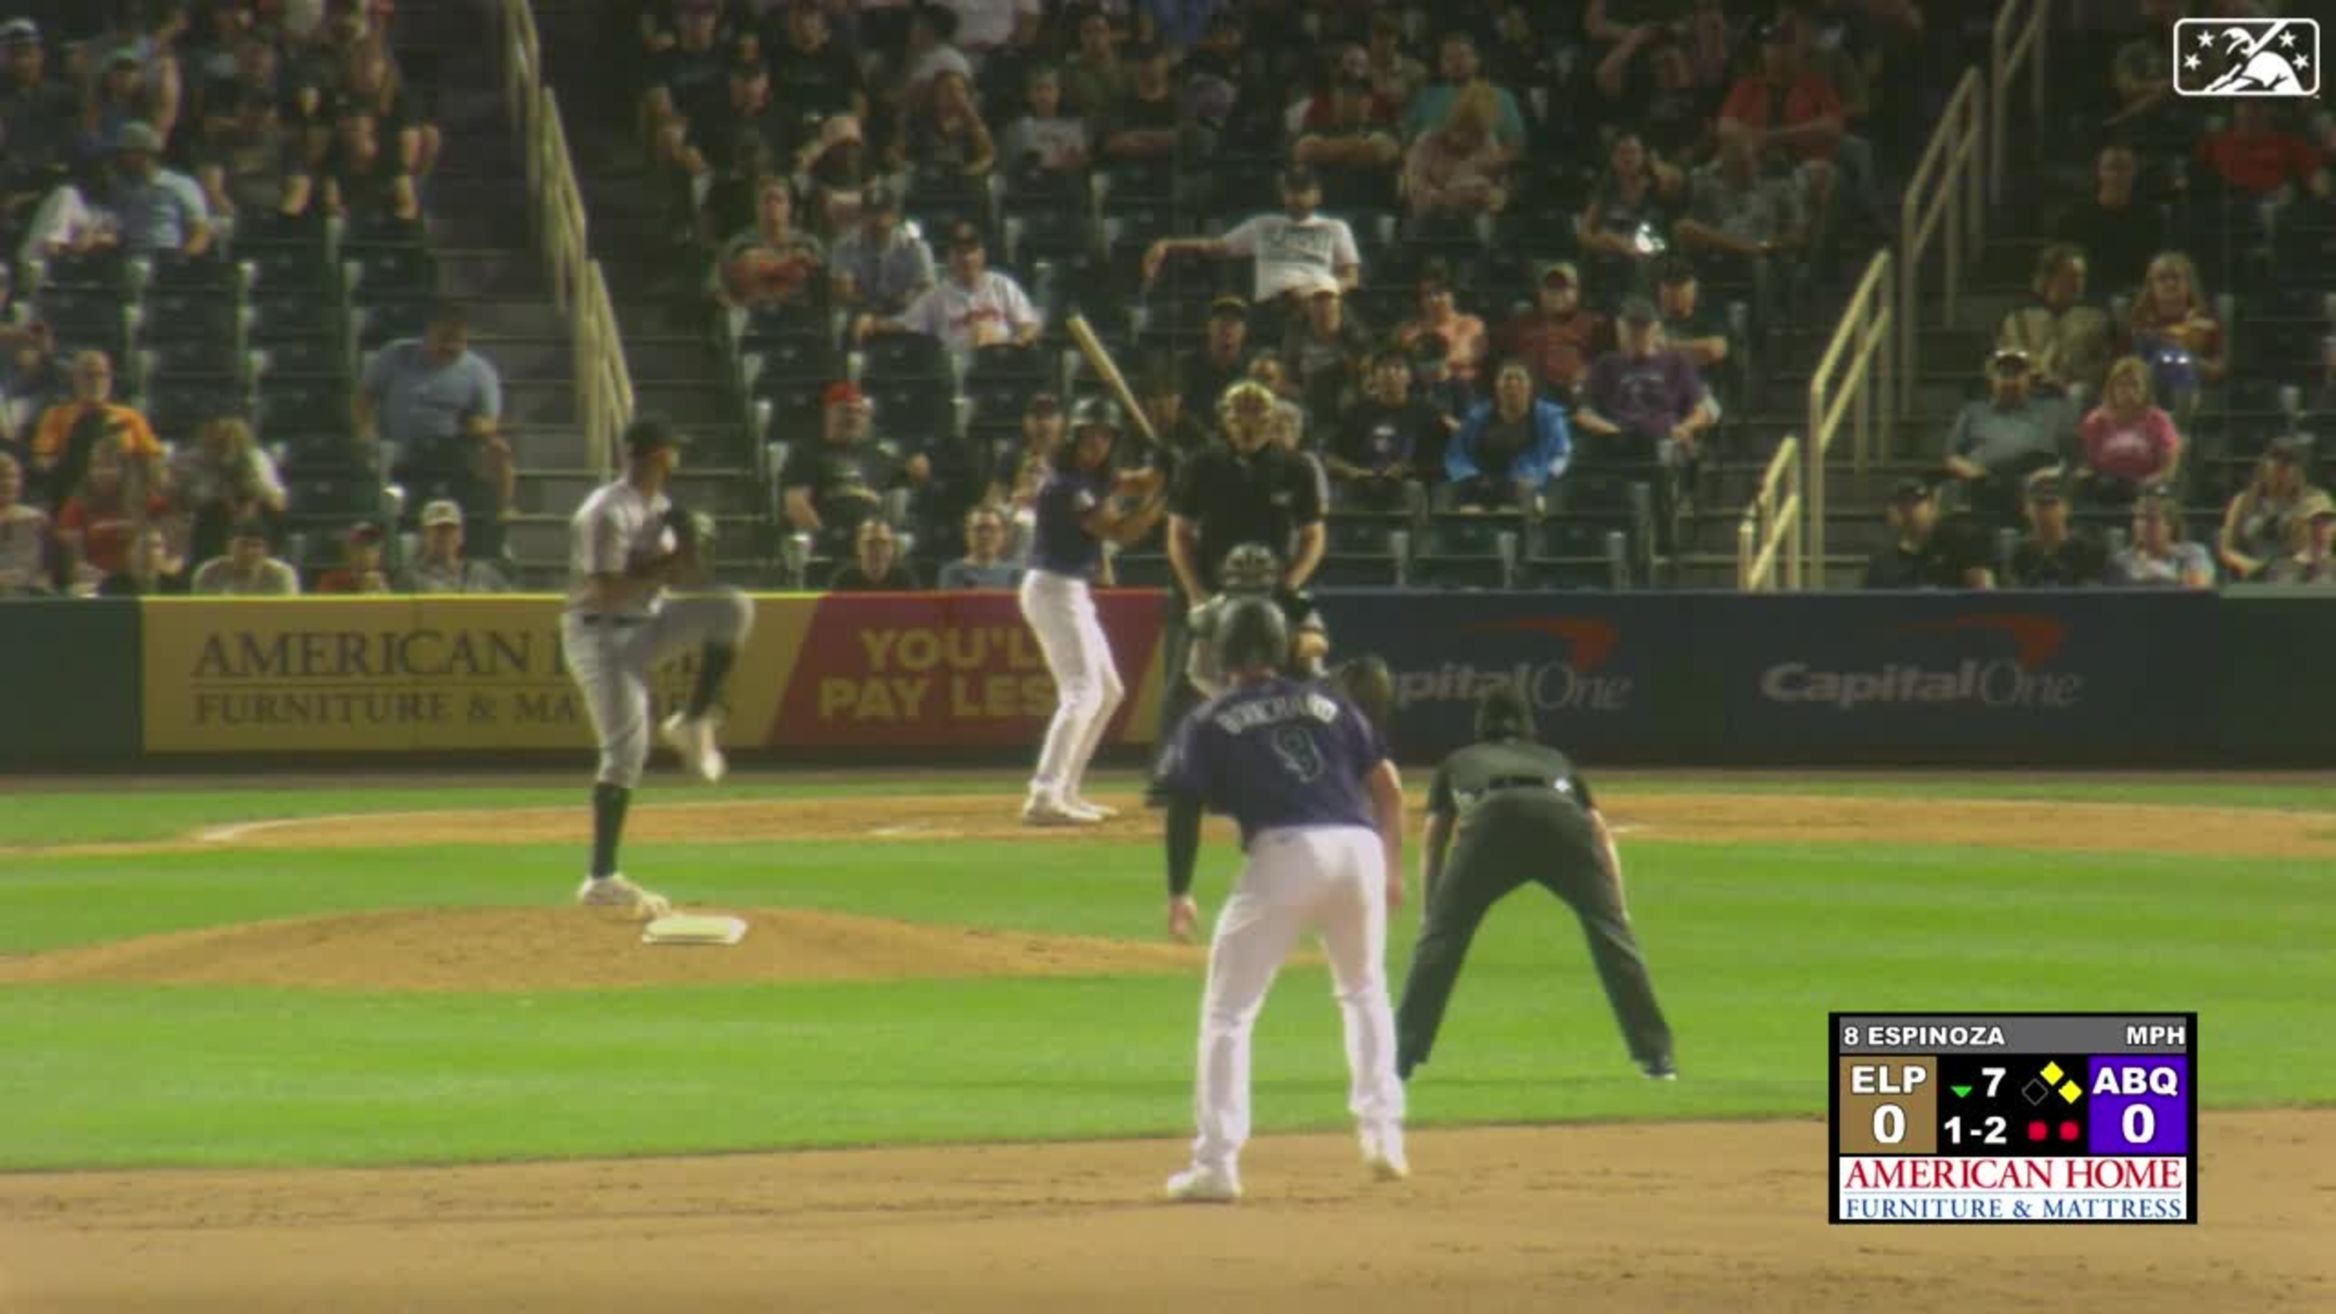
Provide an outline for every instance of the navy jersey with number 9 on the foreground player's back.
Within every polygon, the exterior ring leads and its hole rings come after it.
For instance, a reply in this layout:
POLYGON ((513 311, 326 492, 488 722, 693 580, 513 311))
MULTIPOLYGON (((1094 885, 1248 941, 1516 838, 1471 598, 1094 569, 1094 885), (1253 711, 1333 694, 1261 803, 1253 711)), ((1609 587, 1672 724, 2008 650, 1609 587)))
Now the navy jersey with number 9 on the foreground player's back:
POLYGON ((1378 825, 1364 779, 1388 760, 1378 727, 1327 685, 1273 678, 1194 708, 1161 783, 1240 823, 1240 842, 1282 825, 1378 825))

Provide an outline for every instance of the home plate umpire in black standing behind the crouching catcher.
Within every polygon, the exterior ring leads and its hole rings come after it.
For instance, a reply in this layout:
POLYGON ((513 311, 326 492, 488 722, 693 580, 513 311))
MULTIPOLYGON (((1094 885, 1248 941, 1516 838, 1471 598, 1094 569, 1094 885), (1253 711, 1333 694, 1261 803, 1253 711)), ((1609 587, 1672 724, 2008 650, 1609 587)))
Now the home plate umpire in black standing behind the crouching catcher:
MULTIPOLYGON (((1296 594, 1322 563, 1322 486, 1303 456, 1271 442, 1273 393, 1264 383, 1233 383, 1217 404, 1224 444, 1184 461, 1168 498, 1168 624, 1161 636, 1163 669, 1161 744, 1198 701, 1184 680, 1189 664, 1189 613, 1224 587, 1224 559, 1243 542, 1266 545, 1289 568, 1278 592, 1296 594)), ((1166 802, 1159 790, 1147 802, 1166 802)))

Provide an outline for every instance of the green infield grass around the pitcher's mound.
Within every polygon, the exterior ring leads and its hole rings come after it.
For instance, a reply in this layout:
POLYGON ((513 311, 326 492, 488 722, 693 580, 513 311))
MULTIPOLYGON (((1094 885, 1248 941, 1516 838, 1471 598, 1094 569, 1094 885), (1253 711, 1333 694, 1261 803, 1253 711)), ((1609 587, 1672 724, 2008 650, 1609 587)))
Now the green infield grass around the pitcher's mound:
MULTIPOLYGON (((2201 797, 2114 790, 2144 793, 2201 797)), ((0 835, 21 839, 12 828, 28 818, 54 839, 89 839, 119 837, 117 823, 175 835, 572 795, 9 797, 0 835)), ((1205 858, 1205 907, 1233 860, 1229 846, 1205 858)), ((642 844, 633 870, 708 905, 1133 940, 1159 935, 1163 912, 1159 856, 1138 835, 642 844)), ((0 858, 0 954, 336 910, 554 902, 572 884, 565 846, 0 858)), ((2336 998, 2329 893, 2308 860, 1635 842, 1633 910, 1684 1080, 1635 1076, 1572 919, 1523 891, 1476 942, 1437 1059, 1411 1087, 1413 1115, 1822 1115, 1827 1010, 1899 1008, 2198 1010, 2208 1104, 2336 1101, 2336 1054, 2320 1043, 2336 998)), ((1416 926, 1413 905, 1392 938, 1397 980, 1416 926)), ((1196 975, 453 996, 0 987, 0 1169, 1187 1134, 1196 1012, 1196 975)), ((1341 1104, 1327 973, 1294 968, 1259 1024, 1259 1129, 1339 1127, 1341 1104)))

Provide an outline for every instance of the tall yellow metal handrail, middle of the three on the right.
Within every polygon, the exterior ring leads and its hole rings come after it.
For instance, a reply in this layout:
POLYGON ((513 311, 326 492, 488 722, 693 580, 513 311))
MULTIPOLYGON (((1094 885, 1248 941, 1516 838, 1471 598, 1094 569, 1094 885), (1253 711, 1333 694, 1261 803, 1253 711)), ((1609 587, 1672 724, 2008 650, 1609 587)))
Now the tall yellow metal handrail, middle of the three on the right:
POLYGON ((1850 463, 1857 475, 1864 475, 1876 449, 1890 451, 1904 402, 1906 376, 1894 369, 1890 332, 1911 316, 1892 292, 1892 288, 1904 285, 1904 281, 1892 283, 1892 262, 1887 250, 1873 253, 1864 278, 1850 292, 1850 304, 1841 311, 1834 339, 1817 358, 1815 374, 1808 376, 1808 435, 1801 447, 1808 472, 1801 493, 1808 517, 1803 535, 1808 573, 1817 585, 1824 582, 1824 456, 1834 449, 1843 421, 1855 421, 1850 463))

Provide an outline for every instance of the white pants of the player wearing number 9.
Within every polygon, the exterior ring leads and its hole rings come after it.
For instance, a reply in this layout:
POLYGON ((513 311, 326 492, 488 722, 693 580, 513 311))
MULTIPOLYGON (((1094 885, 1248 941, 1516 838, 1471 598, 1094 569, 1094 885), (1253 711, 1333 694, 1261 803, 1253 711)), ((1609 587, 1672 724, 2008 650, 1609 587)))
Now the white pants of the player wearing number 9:
POLYGON ((1348 1113, 1367 1129, 1404 1122, 1388 1005, 1388 863, 1360 825, 1261 830, 1208 945, 1201 996, 1201 1134, 1191 1162, 1236 1171, 1250 1139, 1250 1031, 1273 975, 1306 931, 1322 933, 1346 1022, 1348 1113))

